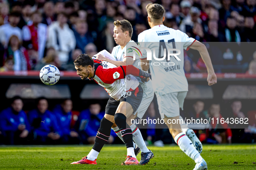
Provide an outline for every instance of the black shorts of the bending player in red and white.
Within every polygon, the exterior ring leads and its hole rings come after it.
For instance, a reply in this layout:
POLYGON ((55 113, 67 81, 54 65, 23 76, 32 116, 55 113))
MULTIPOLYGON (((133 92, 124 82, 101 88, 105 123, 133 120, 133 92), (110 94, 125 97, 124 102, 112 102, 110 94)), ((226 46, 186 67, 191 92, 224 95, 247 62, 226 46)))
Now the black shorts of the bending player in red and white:
POLYGON ((110 97, 107 101, 105 113, 114 116, 117 111, 117 107, 122 101, 128 102, 133 107, 133 113, 135 113, 139 107, 140 102, 142 101, 142 96, 143 89, 139 85, 135 90, 126 92, 126 94, 120 98, 119 101, 116 101, 110 97))

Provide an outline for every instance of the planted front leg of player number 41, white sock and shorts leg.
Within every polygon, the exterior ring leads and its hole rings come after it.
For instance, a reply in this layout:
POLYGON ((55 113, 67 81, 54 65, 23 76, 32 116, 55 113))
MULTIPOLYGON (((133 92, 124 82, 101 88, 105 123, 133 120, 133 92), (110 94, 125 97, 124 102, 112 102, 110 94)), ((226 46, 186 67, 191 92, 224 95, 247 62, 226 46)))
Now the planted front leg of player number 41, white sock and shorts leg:
MULTIPOLYGON (((207 164, 204 159, 201 157, 199 152, 194 148, 191 140, 188 136, 182 132, 180 120, 179 120, 179 104, 178 104, 178 92, 164 94, 164 95, 157 95, 157 101, 159 105, 159 111, 161 117, 164 119, 166 125, 169 128, 170 133, 172 134, 173 139, 187 154, 191 159, 195 161, 197 166, 203 165, 199 168, 207 168, 207 164)), ((200 169, 196 169, 200 170, 200 169)))

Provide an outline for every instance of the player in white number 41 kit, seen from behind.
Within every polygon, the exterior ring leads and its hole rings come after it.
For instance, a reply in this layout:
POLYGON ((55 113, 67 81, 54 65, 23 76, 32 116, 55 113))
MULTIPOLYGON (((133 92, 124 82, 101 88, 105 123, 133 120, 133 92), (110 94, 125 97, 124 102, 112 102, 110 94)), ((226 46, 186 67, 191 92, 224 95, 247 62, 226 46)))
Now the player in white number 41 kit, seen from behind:
POLYGON ((146 10, 151 28, 140 33, 138 41, 139 43, 142 42, 140 43, 140 47, 147 47, 150 50, 155 49, 156 55, 152 55, 151 60, 146 60, 147 53, 144 50, 140 63, 142 64, 141 67, 144 71, 150 67, 159 112, 161 118, 165 120, 173 139, 181 150, 195 161, 196 166, 194 170, 207 170, 207 163, 201 157, 198 150, 195 149, 201 148, 201 142, 194 135, 193 130, 188 129, 185 124, 171 124, 170 122, 172 120, 179 122, 178 120, 181 119, 179 108, 181 107, 183 109, 184 99, 188 91, 188 82, 183 70, 183 49, 188 50, 191 48, 198 50, 207 67, 208 85, 214 85, 217 83, 217 77, 214 73, 210 56, 204 44, 196 41, 194 38, 189 38, 188 35, 179 30, 174 30, 163 25, 165 9, 161 5, 150 3, 146 6, 146 10), (164 48, 166 49, 166 53, 168 51, 167 49, 174 48, 180 50, 175 51, 176 54, 179 52, 180 54, 168 57, 168 55, 163 53, 164 48), (165 59, 161 60, 164 56, 165 59), (194 147, 191 145, 191 141, 194 147))

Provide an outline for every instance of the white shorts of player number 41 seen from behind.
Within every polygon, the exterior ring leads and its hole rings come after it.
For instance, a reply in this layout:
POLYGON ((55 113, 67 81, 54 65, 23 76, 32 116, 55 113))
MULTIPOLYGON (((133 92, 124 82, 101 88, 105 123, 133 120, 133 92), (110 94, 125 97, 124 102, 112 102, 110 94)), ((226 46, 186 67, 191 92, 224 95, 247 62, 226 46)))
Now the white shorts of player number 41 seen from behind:
POLYGON ((159 95, 156 93, 157 103, 161 119, 166 117, 175 117, 180 115, 180 108, 183 110, 183 104, 188 91, 179 91, 159 95))

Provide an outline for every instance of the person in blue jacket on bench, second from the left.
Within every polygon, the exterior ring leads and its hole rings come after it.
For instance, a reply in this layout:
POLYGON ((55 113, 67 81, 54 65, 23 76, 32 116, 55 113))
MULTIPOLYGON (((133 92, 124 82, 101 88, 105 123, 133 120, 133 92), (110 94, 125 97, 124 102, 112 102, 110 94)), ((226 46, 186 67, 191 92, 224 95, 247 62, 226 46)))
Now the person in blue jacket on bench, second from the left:
POLYGON ((29 111, 28 119, 34 133, 36 144, 54 144, 60 139, 56 117, 48 110, 48 101, 45 98, 38 98, 36 109, 29 111))

